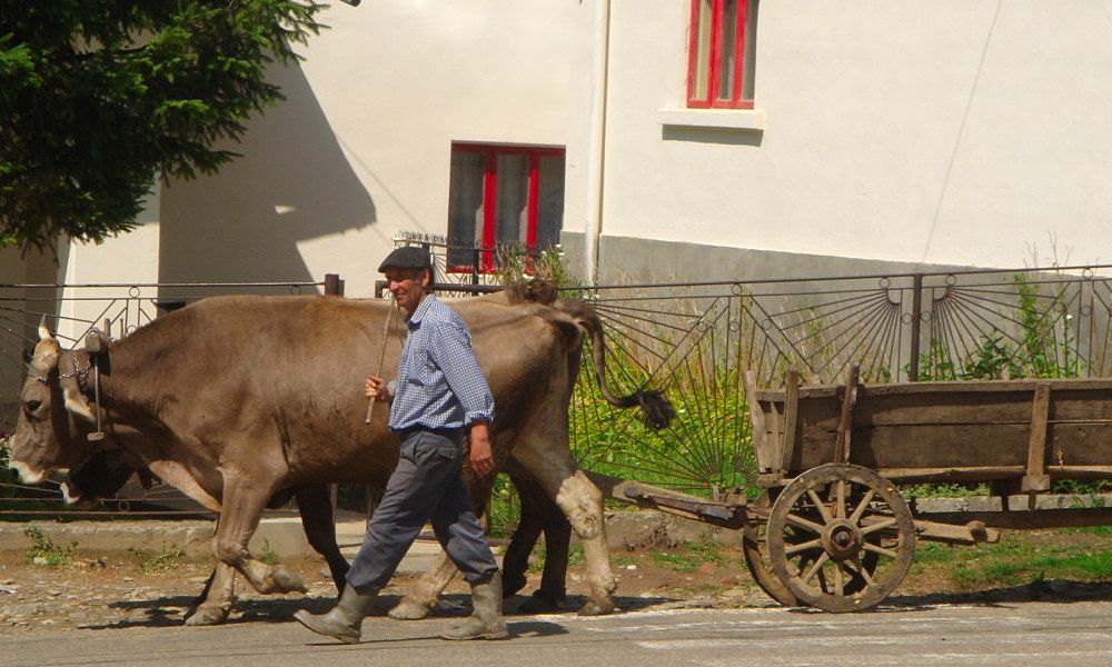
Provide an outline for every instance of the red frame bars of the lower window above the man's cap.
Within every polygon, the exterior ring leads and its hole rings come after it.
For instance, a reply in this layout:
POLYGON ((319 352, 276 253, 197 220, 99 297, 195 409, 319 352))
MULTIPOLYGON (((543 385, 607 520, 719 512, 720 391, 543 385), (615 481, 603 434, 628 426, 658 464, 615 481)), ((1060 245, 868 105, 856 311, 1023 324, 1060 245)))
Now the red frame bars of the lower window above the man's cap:
MULTIPOLYGON (((494 249, 497 239, 495 231, 497 228, 497 197, 498 197, 498 156, 499 155, 526 155, 529 157, 529 182, 527 190, 526 210, 526 239, 525 245, 529 253, 537 250, 537 206, 540 193, 540 158, 545 156, 563 158, 566 156, 563 148, 547 148, 534 146, 499 146, 488 143, 453 143, 453 152, 466 151, 483 153, 483 242, 479 259, 479 272, 493 273, 494 249)), ((449 266, 449 272, 469 272, 469 266, 449 266)))

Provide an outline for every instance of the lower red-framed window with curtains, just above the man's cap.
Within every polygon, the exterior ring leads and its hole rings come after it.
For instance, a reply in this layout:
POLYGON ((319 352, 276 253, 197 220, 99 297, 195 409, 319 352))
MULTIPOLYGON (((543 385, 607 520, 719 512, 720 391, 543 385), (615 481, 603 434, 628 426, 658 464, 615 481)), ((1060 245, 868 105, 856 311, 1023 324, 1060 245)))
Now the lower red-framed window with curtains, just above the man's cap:
POLYGON ((494 248, 528 251, 559 242, 564 220, 564 149, 453 143, 448 187, 449 271, 494 270, 494 248), (478 252, 468 250, 478 249, 478 252))

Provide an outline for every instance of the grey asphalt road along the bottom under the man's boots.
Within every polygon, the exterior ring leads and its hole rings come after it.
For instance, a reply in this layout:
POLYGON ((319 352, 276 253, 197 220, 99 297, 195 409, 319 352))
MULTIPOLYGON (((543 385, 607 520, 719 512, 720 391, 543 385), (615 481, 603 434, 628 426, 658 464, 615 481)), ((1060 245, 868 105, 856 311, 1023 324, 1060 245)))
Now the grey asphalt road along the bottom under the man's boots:
POLYGON ((515 637, 436 638, 458 618, 364 624, 364 643, 295 623, 73 630, 0 638, 0 665, 1112 665, 1112 601, 944 605, 858 615, 677 609, 513 617, 515 637))

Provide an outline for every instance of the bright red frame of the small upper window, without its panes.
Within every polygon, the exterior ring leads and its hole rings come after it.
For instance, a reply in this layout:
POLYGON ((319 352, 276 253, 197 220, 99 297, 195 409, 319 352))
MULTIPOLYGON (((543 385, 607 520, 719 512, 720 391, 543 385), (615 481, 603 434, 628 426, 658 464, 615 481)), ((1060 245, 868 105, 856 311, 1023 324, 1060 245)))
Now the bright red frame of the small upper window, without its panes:
POLYGON ((697 80, 698 48, 699 48, 699 11, 706 0, 692 0, 691 26, 687 41, 687 106, 694 109, 752 109, 753 100, 743 99, 745 76, 745 27, 746 14, 748 12, 748 0, 736 0, 737 16, 734 26, 735 40, 734 50, 734 76, 729 81, 729 96, 719 96, 718 74, 722 70, 722 31, 724 19, 724 0, 711 0, 711 34, 709 34, 709 62, 707 67, 706 97, 699 98, 696 94, 699 81, 697 80), (719 99, 725 97, 725 99, 719 99))

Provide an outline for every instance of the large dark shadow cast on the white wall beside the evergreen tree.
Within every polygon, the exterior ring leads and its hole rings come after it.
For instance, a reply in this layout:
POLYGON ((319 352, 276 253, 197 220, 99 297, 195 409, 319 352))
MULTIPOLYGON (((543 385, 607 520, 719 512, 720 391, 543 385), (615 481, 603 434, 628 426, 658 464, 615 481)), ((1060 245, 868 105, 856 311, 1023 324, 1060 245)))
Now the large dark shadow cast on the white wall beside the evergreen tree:
POLYGON ((274 68, 286 100, 254 117, 242 157, 173 181, 160 209, 160 282, 310 281, 298 242, 377 221, 299 67, 274 68))

